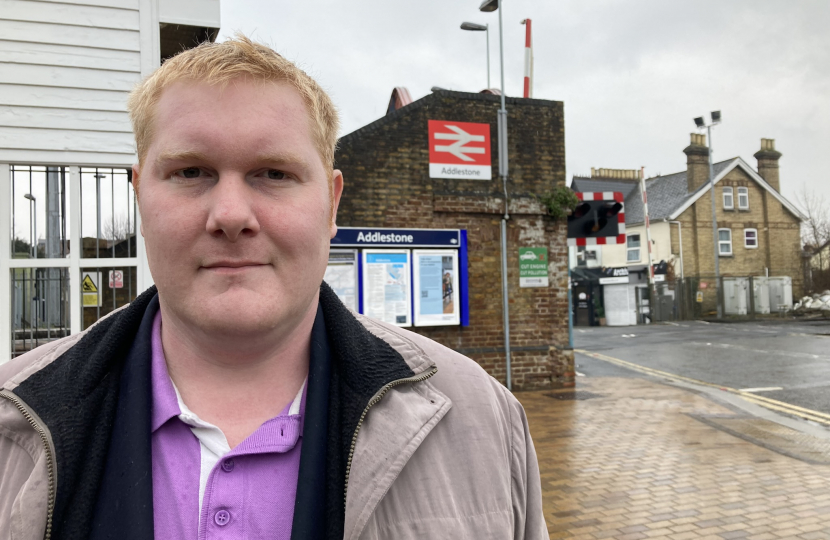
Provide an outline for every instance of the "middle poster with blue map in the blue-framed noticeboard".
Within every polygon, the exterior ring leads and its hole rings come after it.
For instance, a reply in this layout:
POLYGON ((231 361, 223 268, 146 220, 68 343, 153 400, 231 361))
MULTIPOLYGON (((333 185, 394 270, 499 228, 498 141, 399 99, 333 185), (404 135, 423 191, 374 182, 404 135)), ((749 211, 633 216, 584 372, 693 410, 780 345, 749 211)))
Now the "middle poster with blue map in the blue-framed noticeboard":
POLYGON ((412 326, 409 250, 363 250, 363 314, 412 326))

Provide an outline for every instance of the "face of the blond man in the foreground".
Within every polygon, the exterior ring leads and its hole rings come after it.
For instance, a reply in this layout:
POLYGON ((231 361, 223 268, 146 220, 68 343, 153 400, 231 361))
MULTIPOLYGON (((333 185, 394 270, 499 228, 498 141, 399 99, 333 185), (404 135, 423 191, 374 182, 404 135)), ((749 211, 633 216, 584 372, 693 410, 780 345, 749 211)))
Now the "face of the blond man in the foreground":
POLYGON ((316 305, 343 188, 299 93, 179 81, 154 122, 134 173, 163 312, 214 337, 291 332, 316 305))

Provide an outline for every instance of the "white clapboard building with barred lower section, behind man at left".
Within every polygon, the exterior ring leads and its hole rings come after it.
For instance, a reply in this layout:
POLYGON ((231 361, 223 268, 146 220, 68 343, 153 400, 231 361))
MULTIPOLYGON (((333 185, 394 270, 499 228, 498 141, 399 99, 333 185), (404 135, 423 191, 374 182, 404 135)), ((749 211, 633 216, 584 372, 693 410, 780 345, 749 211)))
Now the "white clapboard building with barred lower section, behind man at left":
POLYGON ((219 31, 219 0, 0 0, 0 363, 152 285, 132 87, 219 31))

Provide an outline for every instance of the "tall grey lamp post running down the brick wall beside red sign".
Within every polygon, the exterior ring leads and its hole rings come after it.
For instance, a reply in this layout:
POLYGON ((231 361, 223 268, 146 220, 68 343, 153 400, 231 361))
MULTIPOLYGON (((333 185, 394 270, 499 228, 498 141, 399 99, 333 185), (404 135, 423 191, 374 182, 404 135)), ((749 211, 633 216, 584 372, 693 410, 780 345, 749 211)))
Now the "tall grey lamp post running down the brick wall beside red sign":
POLYGON ((502 188, 504 189, 504 217, 501 220, 501 286, 502 304, 504 308, 504 354, 507 369, 507 389, 513 390, 513 379, 511 373, 510 357, 510 306, 507 289, 507 220, 510 219, 509 201, 507 198, 507 108, 504 99, 504 30, 502 28, 503 10, 499 9, 500 0, 484 0, 479 6, 479 11, 489 13, 498 10, 499 12, 499 67, 501 70, 501 108, 498 114, 498 139, 499 139, 499 175, 501 176, 502 188))

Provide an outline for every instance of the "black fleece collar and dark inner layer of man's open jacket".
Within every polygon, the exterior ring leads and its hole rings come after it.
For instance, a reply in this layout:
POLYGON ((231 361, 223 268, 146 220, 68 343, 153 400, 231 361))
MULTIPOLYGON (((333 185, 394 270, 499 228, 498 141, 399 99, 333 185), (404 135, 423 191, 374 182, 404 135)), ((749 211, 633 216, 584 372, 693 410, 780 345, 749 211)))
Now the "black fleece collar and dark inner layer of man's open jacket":
MULTIPOLYGON (((48 426, 55 445, 58 489, 52 538, 56 540, 93 535, 118 540, 152 538, 149 338, 138 336, 145 335, 148 320, 152 323, 155 298, 156 289, 151 287, 15 389, 48 426), (127 459, 125 452, 130 449, 137 454, 127 459), (120 474, 125 476, 113 481, 111 477, 120 474), (128 480, 134 482, 129 488, 124 483, 128 480), (122 534, 106 524, 93 527, 96 515, 124 512, 120 503, 113 506, 109 502, 123 502, 128 492, 139 507, 122 521, 132 524, 135 535, 122 534)), ((292 538, 339 540, 345 519, 346 464, 360 415, 378 390, 393 380, 411 377, 413 372, 397 351, 360 324, 325 283, 320 288, 318 319, 320 313, 326 338, 313 339, 312 347, 322 352, 327 345, 330 363, 328 375, 325 367, 310 366, 306 409, 308 415, 309 405, 314 408, 316 403, 318 411, 325 407, 327 412, 325 421, 319 413, 311 413, 315 416, 312 421, 305 420, 297 490, 297 505, 303 508, 295 509, 299 527, 292 538), (315 383, 315 391, 312 376, 320 383, 315 383), (325 398, 328 403, 323 405, 325 398), (319 444, 308 444, 312 440, 319 444), (325 455, 324 482, 315 473, 323 461, 321 454, 325 455), (316 524, 303 528, 302 524, 315 515, 316 524)), ((317 324, 315 321, 315 328, 317 324)))

